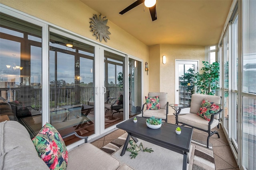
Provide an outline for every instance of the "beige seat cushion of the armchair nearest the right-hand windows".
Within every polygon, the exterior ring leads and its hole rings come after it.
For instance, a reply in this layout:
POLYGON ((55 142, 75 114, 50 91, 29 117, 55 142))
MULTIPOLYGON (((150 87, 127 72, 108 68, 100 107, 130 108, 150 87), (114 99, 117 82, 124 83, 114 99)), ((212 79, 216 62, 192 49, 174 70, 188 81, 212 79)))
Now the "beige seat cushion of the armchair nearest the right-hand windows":
MULTIPOLYGON (((208 130, 209 121, 206 121, 204 118, 199 117, 194 113, 188 113, 186 115, 179 115, 178 121, 182 123, 186 123, 187 125, 191 125, 193 127, 201 128, 204 130, 208 130)), ((211 129, 216 127, 219 124, 217 119, 214 119, 211 129)))

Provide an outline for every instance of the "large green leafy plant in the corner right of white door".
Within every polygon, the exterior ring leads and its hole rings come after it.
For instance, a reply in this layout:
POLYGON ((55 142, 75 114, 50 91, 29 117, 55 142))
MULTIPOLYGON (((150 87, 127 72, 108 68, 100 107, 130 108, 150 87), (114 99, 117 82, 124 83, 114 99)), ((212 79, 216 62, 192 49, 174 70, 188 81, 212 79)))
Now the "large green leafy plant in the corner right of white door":
POLYGON ((212 64, 202 61, 204 73, 196 73, 194 76, 194 85, 197 86, 196 92, 206 95, 215 95, 215 91, 219 89, 218 81, 220 79, 220 64, 214 62, 212 64))

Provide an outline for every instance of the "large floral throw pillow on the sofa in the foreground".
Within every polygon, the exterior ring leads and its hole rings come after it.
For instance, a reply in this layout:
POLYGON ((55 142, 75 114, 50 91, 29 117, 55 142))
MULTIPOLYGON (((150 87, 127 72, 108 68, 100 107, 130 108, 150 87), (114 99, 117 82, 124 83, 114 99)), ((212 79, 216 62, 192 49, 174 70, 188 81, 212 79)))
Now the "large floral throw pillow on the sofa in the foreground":
POLYGON ((32 141, 38 156, 44 160, 50 170, 67 169, 68 150, 56 128, 46 123, 32 141))

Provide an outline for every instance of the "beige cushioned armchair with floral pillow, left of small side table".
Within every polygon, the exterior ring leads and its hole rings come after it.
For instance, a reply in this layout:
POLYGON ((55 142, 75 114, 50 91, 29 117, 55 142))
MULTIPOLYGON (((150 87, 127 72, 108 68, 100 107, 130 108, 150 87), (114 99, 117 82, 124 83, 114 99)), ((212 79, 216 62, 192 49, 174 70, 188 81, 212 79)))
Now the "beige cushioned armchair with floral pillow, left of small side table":
POLYGON ((168 106, 167 93, 165 92, 149 92, 145 96, 146 103, 142 106, 142 117, 152 117, 162 119, 167 122, 168 106), (144 110, 144 106, 146 109, 144 110))

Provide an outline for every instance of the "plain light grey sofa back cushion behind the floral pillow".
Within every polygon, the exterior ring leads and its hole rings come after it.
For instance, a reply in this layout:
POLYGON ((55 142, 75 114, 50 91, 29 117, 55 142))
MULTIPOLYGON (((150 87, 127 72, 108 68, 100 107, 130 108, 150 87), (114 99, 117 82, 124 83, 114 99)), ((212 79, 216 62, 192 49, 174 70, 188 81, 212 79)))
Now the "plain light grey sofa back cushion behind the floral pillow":
POLYGON ((16 121, 0 123, 0 170, 47 170, 26 128, 16 121))

